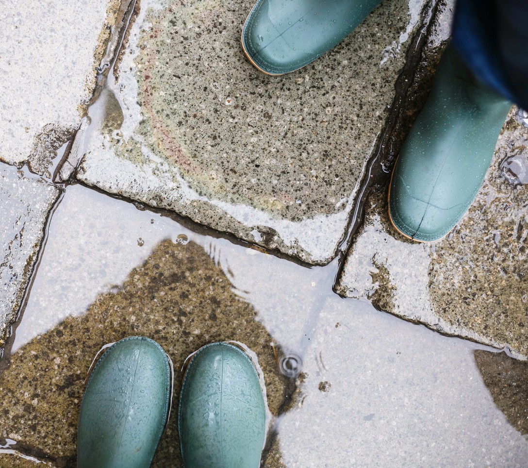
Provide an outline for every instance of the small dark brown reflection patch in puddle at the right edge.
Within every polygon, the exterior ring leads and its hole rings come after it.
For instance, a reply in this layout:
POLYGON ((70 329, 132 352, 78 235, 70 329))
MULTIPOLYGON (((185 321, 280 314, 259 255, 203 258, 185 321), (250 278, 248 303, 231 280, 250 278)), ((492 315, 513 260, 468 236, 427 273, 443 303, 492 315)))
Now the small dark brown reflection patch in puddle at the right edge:
POLYGON ((474 351, 475 362, 497 408, 521 434, 528 434, 528 363, 505 352, 474 351))

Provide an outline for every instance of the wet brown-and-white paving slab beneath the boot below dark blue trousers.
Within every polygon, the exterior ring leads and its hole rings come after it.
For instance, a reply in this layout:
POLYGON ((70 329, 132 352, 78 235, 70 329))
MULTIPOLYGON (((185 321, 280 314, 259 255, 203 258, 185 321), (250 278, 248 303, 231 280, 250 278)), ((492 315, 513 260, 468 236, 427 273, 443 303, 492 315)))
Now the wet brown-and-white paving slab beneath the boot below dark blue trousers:
POLYGON ((432 244, 390 226, 386 188, 374 193, 338 279, 338 293, 384 311, 528 357, 528 129, 512 109, 486 180, 458 226, 432 244))

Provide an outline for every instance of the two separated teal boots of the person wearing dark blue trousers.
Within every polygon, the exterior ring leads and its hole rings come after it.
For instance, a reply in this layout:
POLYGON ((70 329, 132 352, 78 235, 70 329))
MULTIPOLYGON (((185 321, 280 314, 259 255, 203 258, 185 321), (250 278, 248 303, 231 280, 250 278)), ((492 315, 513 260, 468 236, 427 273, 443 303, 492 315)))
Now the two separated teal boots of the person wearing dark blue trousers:
MULTIPOLYGON (((262 72, 288 73, 341 42, 379 3, 259 0, 244 24, 242 47, 262 72)), ((428 242, 456 226, 484 181, 511 107, 448 46, 392 174, 389 214, 400 233, 428 242)))

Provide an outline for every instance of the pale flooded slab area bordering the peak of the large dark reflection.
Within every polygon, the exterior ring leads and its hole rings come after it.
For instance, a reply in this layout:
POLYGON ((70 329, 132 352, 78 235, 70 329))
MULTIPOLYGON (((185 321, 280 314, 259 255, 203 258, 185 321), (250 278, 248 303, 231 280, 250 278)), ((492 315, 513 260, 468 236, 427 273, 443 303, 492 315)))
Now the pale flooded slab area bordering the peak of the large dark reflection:
POLYGON ((259 311, 259 320, 277 342, 301 357, 320 306, 332 295, 333 269, 299 267, 263 251, 197 233, 161 214, 137 210, 133 204, 81 185, 68 188, 48 237, 24 313, 31 318, 18 325, 12 352, 65 317, 83 314, 99 294, 117 291, 130 270, 142 264, 163 239, 178 245, 192 240, 202 246, 235 294, 259 311), (294 327, 285 313, 296 318, 294 327))

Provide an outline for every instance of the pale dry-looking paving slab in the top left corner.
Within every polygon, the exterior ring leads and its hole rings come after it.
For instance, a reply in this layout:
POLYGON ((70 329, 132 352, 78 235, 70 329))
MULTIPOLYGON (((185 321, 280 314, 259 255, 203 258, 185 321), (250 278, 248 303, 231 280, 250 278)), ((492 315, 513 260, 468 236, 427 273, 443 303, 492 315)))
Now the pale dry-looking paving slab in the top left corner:
POLYGON ((116 0, 5 2, 0 12, 0 161, 44 174, 86 113, 116 0))

